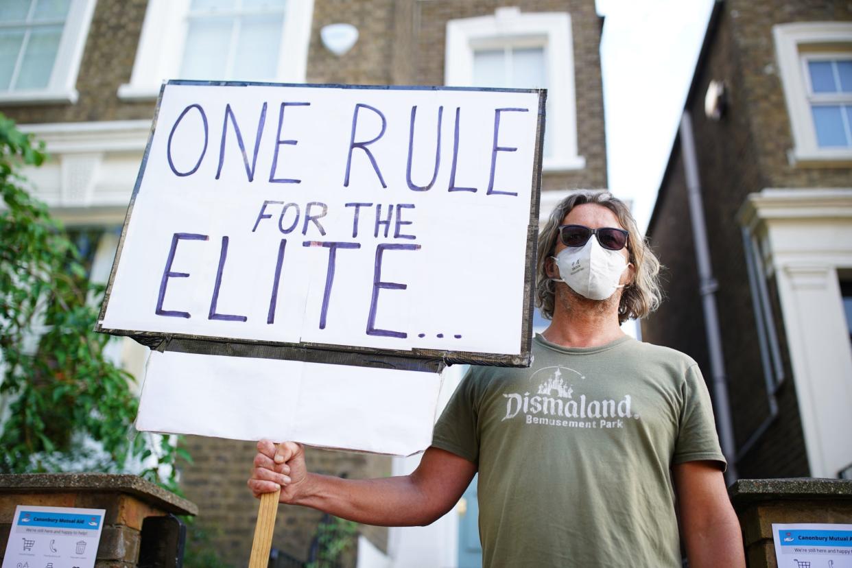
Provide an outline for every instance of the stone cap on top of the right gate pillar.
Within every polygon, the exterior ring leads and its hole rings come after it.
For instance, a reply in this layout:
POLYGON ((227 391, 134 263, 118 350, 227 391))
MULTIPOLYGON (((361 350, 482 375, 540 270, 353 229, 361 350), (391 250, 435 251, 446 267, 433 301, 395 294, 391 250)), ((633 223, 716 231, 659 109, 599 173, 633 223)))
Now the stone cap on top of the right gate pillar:
POLYGON ((728 488, 734 502, 781 499, 836 499, 852 501, 852 479, 787 478, 739 479, 728 488))

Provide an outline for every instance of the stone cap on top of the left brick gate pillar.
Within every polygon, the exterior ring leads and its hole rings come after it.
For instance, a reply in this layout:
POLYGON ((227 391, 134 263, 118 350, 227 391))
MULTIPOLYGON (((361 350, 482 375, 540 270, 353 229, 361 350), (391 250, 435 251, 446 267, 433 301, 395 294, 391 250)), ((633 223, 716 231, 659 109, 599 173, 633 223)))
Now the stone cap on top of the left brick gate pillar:
POLYGON ((120 491, 140 497, 166 513, 199 513, 198 506, 159 485, 129 473, 15 473, 0 474, 0 492, 120 491))

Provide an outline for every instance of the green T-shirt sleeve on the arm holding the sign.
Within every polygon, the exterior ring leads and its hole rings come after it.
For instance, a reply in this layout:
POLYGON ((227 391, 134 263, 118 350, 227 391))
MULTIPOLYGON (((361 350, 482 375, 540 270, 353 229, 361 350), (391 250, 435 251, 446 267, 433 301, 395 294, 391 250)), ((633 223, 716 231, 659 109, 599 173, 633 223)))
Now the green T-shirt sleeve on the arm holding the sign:
POLYGON ((452 393, 432 434, 432 445, 469 462, 479 461, 479 428, 474 405, 475 371, 471 367, 452 393))

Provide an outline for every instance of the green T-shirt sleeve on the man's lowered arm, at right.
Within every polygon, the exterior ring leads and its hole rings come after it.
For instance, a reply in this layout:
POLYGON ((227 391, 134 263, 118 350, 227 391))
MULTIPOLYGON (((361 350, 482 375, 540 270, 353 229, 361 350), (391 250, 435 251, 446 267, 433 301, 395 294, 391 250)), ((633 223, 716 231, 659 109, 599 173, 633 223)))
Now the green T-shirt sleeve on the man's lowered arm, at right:
POLYGON ((697 364, 687 370, 682 390, 683 405, 672 463, 710 460, 719 462, 724 470, 728 462, 719 447, 710 393, 697 364))

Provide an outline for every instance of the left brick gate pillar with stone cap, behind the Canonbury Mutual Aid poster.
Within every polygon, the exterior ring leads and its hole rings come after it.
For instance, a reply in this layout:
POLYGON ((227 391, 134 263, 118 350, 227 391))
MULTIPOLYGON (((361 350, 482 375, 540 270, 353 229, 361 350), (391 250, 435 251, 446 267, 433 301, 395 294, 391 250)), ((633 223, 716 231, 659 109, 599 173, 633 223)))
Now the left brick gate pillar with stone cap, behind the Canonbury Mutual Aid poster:
POLYGON ((180 565, 183 527, 172 515, 199 511, 195 503, 136 475, 0 475, 0 550, 6 549, 18 505, 106 509, 95 568, 180 565), (164 548, 163 542, 172 544, 164 548))

